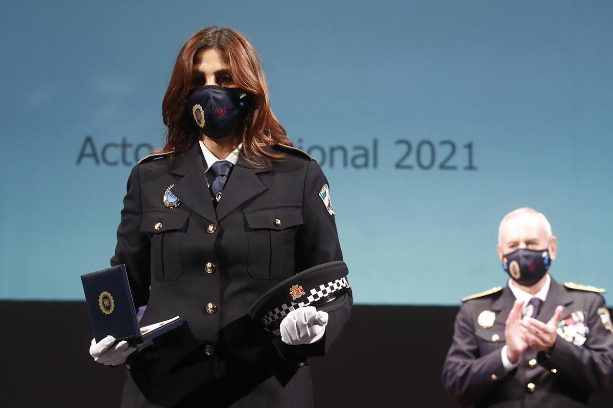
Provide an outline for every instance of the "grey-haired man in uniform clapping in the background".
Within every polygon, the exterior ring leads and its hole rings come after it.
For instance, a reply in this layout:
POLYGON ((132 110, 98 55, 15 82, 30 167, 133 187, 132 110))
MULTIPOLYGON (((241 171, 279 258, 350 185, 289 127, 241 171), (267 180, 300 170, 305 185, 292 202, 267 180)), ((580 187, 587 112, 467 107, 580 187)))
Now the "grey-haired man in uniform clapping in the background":
POLYGON ((477 407, 587 407, 613 381, 604 289, 552 278, 557 238, 536 210, 508 213, 497 249, 508 283, 462 299, 443 367, 447 393, 477 407))

